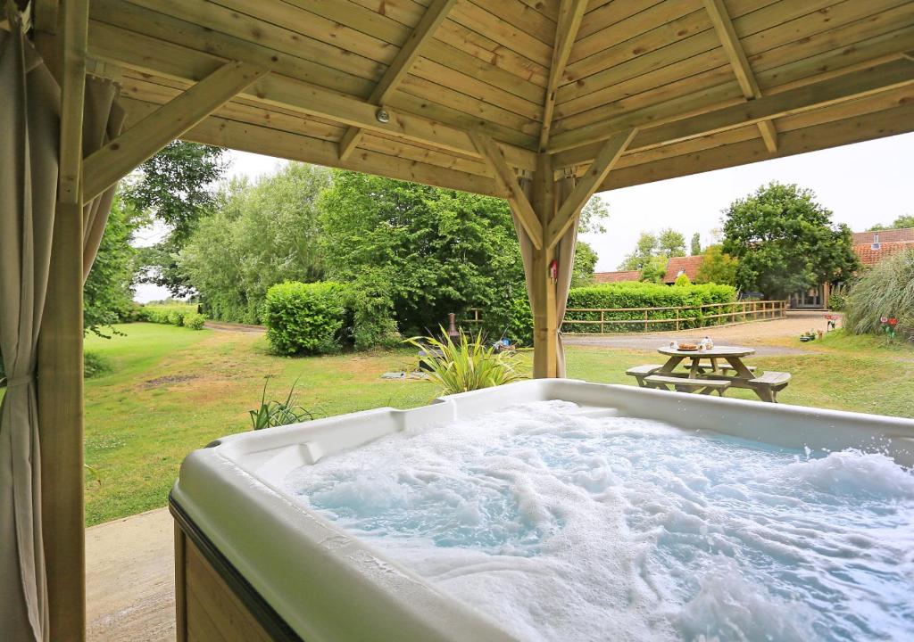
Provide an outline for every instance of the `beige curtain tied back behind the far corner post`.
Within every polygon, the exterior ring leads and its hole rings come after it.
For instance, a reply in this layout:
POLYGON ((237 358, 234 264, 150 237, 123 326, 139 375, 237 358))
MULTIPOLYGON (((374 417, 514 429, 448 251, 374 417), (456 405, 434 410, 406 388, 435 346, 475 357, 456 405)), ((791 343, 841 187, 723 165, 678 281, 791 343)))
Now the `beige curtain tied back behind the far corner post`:
MULTIPOLYGON (((574 189, 576 179, 569 177, 558 181, 556 184, 556 200, 558 204, 571 194, 574 189)), ((532 185, 528 181, 522 182, 526 195, 529 198, 532 194, 532 185)), ((530 299, 532 306, 536 300, 537 293, 533 289, 532 272, 533 272, 533 242, 527 235, 524 226, 521 225, 517 216, 514 216, 515 232, 520 240, 520 254, 524 259, 524 274, 526 277, 526 294, 530 299)), ((575 243, 578 241, 578 226, 573 225, 569 228, 556 246, 556 258, 558 258, 558 279, 556 281, 556 319, 558 319, 558 336, 556 346, 556 375, 565 376, 565 349, 562 346, 561 326, 565 318, 565 309, 568 307, 569 289, 571 289, 571 272, 574 268, 575 243)))

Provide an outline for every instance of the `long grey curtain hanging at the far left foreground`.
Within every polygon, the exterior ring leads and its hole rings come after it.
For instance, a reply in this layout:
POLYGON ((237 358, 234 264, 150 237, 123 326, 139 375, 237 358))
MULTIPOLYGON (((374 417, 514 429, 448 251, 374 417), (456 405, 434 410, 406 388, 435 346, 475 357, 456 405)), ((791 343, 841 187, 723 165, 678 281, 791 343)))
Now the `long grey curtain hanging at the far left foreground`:
MULTIPOLYGON (((7 7, 11 5, 7 4, 7 7)), ((0 31, 0 631, 48 635, 35 390, 58 184, 57 83, 16 28, 0 31)))

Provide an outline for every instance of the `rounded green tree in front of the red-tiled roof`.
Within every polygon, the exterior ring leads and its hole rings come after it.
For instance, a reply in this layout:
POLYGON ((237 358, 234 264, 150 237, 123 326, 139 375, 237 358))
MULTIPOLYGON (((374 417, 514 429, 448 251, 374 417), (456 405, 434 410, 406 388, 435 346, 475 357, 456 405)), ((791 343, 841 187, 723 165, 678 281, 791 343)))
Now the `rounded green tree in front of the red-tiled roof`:
POLYGON ((783 299, 801 289, 847 277, 858 267, 850 229, 811 190, 762 185, 724 213, 723 251, 739 258, 737 285, 783 299))

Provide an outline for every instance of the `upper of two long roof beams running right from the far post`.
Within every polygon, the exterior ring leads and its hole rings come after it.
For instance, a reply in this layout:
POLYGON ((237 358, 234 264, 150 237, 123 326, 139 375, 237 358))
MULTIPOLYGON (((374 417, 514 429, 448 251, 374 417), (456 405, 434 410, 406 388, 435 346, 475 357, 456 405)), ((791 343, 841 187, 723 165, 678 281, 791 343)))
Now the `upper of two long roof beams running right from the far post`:
MULTIPOLYGON (((812 111, 912 83, 914 83, 914 65, 911 65, 908 60, 896 59, 875 67, 860 69, 853 74, 845 74, 781 91, 781 93, 769 94, 757 100, 707 111, 655 127, 644 127, 632 141, 629 152, 642 151, 671 142, 685 141, 748 124, 756 124, 760 121, 770 121, 774 118, 812 111)), ((579 138, 581 133, 587 132, 600 141, 619 131, 620 126, 617 124, 609 126, 598 124, 596 127, 580 128, 574 133, 575 138, 579 138)), ((557 140, 554 139, 553 142, 555 143, 557 140)), ((590 142, 562 151, 555 154, 554 164, 557 169, 560 169, 569 165, 586 163, 599 152, 599 149, 599 142, 590 142)))

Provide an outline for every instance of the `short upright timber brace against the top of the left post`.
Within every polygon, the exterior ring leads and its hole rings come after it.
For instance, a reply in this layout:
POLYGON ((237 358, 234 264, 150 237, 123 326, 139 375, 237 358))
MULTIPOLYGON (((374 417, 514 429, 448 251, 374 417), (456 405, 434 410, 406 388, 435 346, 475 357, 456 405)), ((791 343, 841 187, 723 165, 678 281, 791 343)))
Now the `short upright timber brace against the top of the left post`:
POLYGON ((82 205, 82 112, 86 97, 86 44, 89 38, 89 0, 63 5, 60 88, 60 165, 58 200, 82 205))

